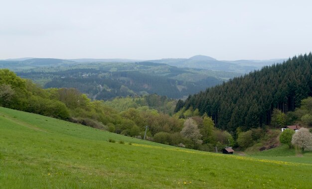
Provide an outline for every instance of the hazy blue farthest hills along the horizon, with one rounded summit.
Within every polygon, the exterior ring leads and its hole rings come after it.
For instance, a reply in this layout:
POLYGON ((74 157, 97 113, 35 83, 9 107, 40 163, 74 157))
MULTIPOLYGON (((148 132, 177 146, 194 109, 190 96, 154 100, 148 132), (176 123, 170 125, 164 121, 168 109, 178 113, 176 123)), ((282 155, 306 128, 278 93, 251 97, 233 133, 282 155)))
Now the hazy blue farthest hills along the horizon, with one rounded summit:
POLYGON ((9 68, 12 70, 24 70, 36 67, 57 67, 71 66, 87 63, 134 63, 134 62, 152 62, 167 64, 179 68, 196 68, 205 70, 228 71, 237 73, 248 73, 261 69, 263 66, 269 66, 275 63, 283 63, 287 59, 272 60, 236 60, 222 61, 209 56, 196 55, 188 59, 185 58, 167 58, 160 60, 133 60, 133 59, 53 59, 53 58, 18 58, 6 59, 0 61, 0 68, 9 68))

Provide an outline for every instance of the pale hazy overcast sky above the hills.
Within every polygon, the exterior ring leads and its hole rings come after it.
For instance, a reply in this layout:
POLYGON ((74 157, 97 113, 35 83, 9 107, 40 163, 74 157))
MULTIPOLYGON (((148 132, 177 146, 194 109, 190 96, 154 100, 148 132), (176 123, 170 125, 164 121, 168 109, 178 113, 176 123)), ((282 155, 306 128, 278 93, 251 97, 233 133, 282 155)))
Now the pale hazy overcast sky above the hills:
POLYGON ((0 0, 0 59, 288 58, 312 51, 311 0, 0 0))

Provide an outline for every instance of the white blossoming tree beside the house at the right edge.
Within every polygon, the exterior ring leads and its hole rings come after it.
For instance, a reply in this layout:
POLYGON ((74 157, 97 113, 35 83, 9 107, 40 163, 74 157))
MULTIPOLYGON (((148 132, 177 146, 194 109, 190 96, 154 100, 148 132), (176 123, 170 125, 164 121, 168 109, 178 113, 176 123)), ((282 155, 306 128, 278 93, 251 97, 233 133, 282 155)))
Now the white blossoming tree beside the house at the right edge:
POLYGON ((312 149, 312 134, 307 128, 299 129, 292 138, 292 144, 296 144, 304 150, 312 149))

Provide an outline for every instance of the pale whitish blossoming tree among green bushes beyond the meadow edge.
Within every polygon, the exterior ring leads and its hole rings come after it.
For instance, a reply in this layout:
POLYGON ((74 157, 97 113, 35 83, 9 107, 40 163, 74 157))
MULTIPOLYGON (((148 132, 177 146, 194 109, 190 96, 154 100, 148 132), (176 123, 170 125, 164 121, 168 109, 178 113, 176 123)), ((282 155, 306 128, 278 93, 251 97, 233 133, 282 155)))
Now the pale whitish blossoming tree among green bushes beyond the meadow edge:
POLYGON ((199 132, 198 125, 192 118, 188 118, 184 121, 181 135, 192 140, 196 144, 202 143, 202 140, 200 140, 202 135, 199 132))

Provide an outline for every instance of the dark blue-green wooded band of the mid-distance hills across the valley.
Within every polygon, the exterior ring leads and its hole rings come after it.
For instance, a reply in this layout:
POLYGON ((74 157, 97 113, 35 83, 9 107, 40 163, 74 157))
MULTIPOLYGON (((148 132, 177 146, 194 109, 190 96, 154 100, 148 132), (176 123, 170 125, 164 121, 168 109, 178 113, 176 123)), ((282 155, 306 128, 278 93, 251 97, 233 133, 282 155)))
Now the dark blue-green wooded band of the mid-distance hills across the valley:
MULTIPOLYGON (((89 71, 86 71, 89 72, 89 71)), ((151 76, 140 72, 96 72, 89 76, 71 75, 55 78, 45 88, 76 88, 94 99, 110 99, 116 96, 135 96, 146 94, 166 95, 181 98, 193 91, 219 84, 221 81, 210 77, 205 82, 183 82, 161 76, 151 76)))

